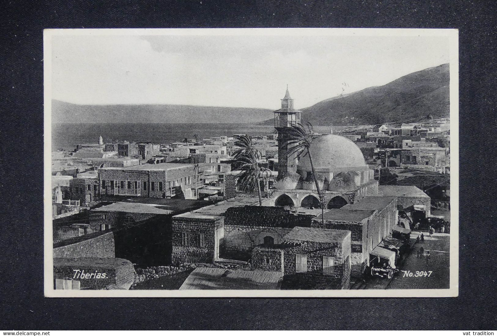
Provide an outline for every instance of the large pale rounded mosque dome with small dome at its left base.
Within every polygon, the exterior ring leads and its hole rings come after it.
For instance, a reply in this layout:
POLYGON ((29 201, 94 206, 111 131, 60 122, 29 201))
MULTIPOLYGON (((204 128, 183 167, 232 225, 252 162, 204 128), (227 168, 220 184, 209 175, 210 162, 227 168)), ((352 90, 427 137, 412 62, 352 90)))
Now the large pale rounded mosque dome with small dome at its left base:
MULTIPOLYGON (((330 134, 314 140, 309 149, 316 172, 346 172, 367 167, 359 147, 346 137, 330 134)), ((304 153, 302 154, 304 156, 304 153)), ((312 171, 309 155, 299 161, 301 171, 312 171)))

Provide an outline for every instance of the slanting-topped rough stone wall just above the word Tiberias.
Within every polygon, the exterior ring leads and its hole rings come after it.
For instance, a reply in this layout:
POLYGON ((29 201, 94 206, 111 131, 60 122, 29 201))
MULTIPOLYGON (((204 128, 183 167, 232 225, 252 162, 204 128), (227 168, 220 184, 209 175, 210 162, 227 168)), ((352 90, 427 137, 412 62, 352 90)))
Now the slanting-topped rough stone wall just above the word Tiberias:
MULTIPOLYGON (((73 238, 73 239, 78 239, 73 238)), ((115 242, 112 232, 100 234, 93 233, 82 236, 82 239, 72 242, 71 239, 64 243, 54 244, 54 258, 78 258, 78 257, 115 257, 115 242), (82 240, 84 239, 84 240, 82 240), (81 240, 81 241, 80 241, 81 240)))

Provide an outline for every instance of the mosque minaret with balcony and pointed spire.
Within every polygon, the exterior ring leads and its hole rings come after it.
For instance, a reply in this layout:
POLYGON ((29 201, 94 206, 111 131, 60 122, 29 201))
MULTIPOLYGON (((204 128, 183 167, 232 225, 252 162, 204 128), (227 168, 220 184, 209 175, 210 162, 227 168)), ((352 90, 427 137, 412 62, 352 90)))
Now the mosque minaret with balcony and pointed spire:
POLYGON ((274 111, 274 128, 278 132, 278 180, 289 173, 297 171, 297 155, 288 157, 288 139, 283 131, 292 125, 300 124, 300 111, 293 109, 293 99, 286 86, 285 97, 281 100, 281 109, 274 111))

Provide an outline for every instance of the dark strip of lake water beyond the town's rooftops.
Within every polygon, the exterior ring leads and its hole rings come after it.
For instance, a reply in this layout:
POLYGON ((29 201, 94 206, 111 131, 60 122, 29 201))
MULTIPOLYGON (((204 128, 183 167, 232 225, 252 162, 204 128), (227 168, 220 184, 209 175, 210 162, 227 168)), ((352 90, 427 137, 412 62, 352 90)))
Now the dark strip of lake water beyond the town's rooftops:
MULTIPOLYGON (((329 126, 316 126, 316 132, 328 133, 329 126)), ((333 129, 341 127, 333 127, 333 129)), ((64 148, 74 150, 79 143, 98 143, 103 137, 104 143, 112 139, 128 141, 150 141, 153 143, 171 143, 183 138, 198 139, 233 134, 251 136, 267 135, 274 132, 272 125, 248 123, 77 123, 52 125, 52 150, 64 148)))

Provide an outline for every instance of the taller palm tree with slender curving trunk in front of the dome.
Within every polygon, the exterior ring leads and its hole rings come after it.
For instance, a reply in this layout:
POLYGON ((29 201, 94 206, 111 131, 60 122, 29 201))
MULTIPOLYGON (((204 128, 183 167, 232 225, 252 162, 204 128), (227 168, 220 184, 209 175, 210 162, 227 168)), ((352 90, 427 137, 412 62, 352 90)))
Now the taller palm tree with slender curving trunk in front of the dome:
POLYGON ((316 171, 314 170, 314 164, 312 161, 312 155, 309 151, 311 145, 314 143, 314 139, 312 138, 313 126, 310 122, 306 123, 308 131, 301 124, 292 125, 291 127, 285 127, 282 131, 283 136, 290 139, 288 141, 288 156, 293 156, 297 154, 298 156, 304 154, 302 157, 309 156, 309 162, 311 163, 311 171, 314 179, 314 183, 316 184, 316 191, 319 195, 319 200, 321 203, 321 221, 323 227, 325 225, 325 208, 324 208, 324 195, 321 192, 321 188, 319 187, 318 179, 316 177, 316 171))

